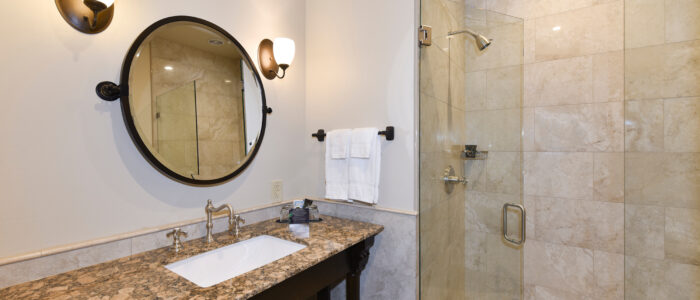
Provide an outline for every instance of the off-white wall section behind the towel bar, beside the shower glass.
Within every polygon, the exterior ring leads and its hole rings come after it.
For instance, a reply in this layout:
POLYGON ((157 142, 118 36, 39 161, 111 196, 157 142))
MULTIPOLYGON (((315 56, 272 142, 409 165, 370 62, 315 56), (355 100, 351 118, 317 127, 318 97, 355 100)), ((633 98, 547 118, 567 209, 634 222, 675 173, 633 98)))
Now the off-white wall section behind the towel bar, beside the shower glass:
POLYGON ((416 203, 415 0, 306 1, 306 141, 309 192, 323 196, 319 128, 396 127, 382 142, 378 206, 416 203))

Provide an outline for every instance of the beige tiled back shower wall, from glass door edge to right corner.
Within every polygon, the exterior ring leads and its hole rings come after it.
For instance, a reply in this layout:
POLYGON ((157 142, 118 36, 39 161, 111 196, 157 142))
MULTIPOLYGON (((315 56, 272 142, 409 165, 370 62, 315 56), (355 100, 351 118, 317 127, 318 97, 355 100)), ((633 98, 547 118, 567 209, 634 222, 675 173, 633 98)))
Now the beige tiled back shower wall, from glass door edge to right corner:
POLYGON ((622 299, 623 2, 485 8, 524 19, 524 298, 622 299))

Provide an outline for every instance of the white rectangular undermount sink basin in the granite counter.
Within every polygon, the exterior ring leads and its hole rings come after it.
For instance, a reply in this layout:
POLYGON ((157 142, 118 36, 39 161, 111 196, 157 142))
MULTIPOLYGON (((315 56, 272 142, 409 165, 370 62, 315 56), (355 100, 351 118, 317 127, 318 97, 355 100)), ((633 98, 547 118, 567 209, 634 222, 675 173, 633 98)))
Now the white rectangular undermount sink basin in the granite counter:
POLYGON ((199 287, 210 287, 304 248, 302 244, 261 235, 165 267, 199 287))

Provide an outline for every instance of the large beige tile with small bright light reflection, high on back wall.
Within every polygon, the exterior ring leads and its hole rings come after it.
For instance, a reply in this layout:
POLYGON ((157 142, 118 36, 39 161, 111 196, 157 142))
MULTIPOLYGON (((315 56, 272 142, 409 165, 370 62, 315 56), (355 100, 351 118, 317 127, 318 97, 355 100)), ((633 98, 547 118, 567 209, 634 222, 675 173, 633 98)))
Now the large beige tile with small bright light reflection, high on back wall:
POLYGON ((622 2, 545 16, 536 20, 536 27, 537 61, 621 50, 622 2))

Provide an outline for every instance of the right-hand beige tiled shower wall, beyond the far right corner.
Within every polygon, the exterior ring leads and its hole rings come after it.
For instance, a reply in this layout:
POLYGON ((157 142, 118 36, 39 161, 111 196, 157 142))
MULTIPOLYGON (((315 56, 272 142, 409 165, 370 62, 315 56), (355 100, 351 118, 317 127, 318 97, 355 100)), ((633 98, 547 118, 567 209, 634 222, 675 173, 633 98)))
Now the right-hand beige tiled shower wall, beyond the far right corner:
POLYGON ((625 22, 625 296, 700 299, 700 1, 625 22))

